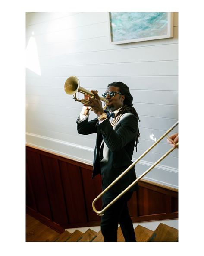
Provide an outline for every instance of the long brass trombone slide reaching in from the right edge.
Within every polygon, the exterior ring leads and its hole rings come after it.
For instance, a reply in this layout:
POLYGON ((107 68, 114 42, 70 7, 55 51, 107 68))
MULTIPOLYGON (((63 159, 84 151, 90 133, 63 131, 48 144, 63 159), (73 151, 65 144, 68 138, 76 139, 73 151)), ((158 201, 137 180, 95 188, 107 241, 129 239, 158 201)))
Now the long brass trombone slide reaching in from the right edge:
POLYGON ((166 131, 166 133, 164 133, 158 140, 157 142, 155 142, 149 149, 147 149, 135 162, 133 162, 124 172, 122 172, 107 188, 104 189, 103 192, 101 192, 97 198, 94 199, 94 201, 92 202, 92 207, 95 213, 97 213, 98 215, 103 215, 104 211, 106 211, 112 204, 114 204, 120 197, 122 197, 123 194, 125 194, 130 188, 132 188, 141 178, 144 177, 144 175, 146 175, 148 172, 151 171, 151 169, 153 169, 159 162, 161 162, 166 156, 168 156, 174 149, 176 149, 179 146, 179 143, 174 143, 172 139, 169 138, 169 136, 167 135, 170 131, 172 131, 177 125, 179 124, 179 122, 176 122, 171 128, 169 128, 169 130, 166 131), (157 162, 155 162, 148 170, 146 170, 142 175, 140 175, 135 181, 133 181, 126 189, 124 189, 116 198, 114 198, 106 207, 104 207, 104 209, 102 209, 101 211, 97 211, 96 207, 95 207, 95 202, 102 197, 102 195, 104 193, 106 193, 107 190, 109 190, 114 184, 116 184, 117 181, 119 181, 120 178, 122 178, 122 176, 124 176, 130 169, 132 169, 133 166, 136 165, 137 162, 139 162, 152 148, 154 148, 154 146, 156 146, 164 137, 167 137, 171 142, 173 142, 174 146, 169 149, 168 152, 166 152, 159 160, 157 160, 157 162))

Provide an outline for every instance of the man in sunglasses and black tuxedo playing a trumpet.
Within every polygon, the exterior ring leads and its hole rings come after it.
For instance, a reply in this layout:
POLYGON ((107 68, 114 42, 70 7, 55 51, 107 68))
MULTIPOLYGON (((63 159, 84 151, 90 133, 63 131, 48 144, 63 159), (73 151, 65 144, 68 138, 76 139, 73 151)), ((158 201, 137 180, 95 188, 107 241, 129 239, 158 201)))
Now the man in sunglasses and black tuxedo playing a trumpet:
MULTIPOLYGON (((90 104, 84 104, 77 119, 77 130, 80 134, 97 133, 94 150, 93 177, 97 174, 102 178, 102 189, 107 188, 129 165, 132 164, 134 148, 140 137, 139 117, 132 107, 133 97, 129 87, 122 82, 108 85, 102 94, 108 100, 107 109, 103 110, 97 91, 91 90, 94 98, 85 95, 90 104), (90 108, 97 117, 89 120, 90 108)), ((127 172, 102 197, 102 208, 110 203, 127 186, 135 181, 135 168, 127 172)), ((120 224, 126 242, 136 242, 132 220, 129 216, 127 202, 133 191, 138 189, 134 185, 118 201, 111 205, 101 217, 101 232, 105 242, 117 241, 117 228, 120 224)))

